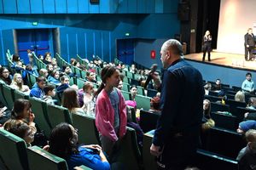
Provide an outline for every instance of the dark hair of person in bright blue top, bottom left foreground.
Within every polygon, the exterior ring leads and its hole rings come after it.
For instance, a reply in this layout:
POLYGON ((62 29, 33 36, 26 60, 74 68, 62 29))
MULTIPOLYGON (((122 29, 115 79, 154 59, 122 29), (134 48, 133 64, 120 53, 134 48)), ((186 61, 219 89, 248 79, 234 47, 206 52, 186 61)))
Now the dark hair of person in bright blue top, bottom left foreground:
POLYGON ((73 132, 67 122, 61 122, 53 128, 49 135, 49 153, 67 159, 73 153, 78 153, 78 145, 72 144, 73 132))

